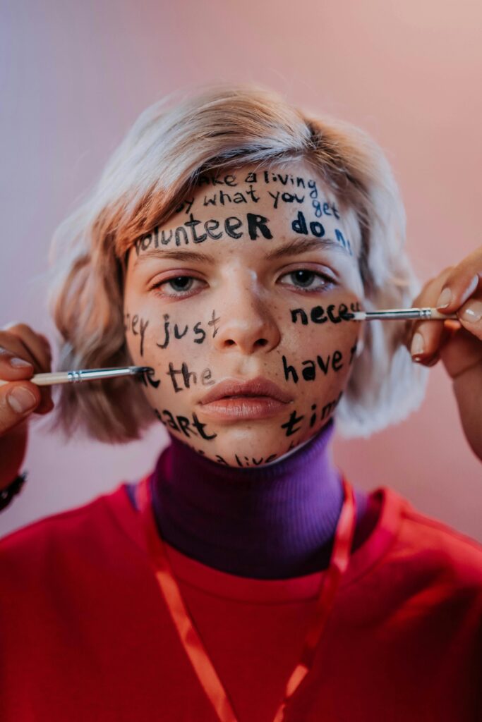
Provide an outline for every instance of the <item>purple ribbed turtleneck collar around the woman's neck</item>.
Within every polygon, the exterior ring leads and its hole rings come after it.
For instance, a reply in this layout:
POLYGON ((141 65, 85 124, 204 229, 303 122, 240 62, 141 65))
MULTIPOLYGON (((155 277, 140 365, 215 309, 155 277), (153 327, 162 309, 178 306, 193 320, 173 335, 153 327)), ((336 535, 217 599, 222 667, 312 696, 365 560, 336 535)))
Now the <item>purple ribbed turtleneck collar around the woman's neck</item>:
MULTIPOLYGON (((243 577, 285 579, 326 568, 343 505, 333 432, 330 419, 301 448, 244 469, 217 464, 173 437, 152 474, 160 536, 192 559, 243 577)), ((134 484, 128 488, 134 499, 134 484)), ((376 510, 354 491, 356 549, 376 510)))

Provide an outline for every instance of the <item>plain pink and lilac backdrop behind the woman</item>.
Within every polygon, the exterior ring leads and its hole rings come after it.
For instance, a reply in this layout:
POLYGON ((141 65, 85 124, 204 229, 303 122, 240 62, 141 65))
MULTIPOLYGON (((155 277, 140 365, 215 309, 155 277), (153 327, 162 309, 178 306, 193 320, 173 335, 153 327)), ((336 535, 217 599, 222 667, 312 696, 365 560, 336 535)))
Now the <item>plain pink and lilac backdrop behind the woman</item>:
MULTIPOLYGON (((4 0, 1 15, 0 326, 53 339, 43 274, 54 228, 141 110, 201 82, 262 82, 369 131, 400 184, 421 279, 482 242, 480 3, 4 0)), ((64 445, 34 417, 30 478, 0 535, 139 478, 165 441, 156 425, 125 446, 64 445)), ((419 412, 337 440, 335 459, 354 484, 390 486, 482 541, 482 466, 442 365, 419 412)))

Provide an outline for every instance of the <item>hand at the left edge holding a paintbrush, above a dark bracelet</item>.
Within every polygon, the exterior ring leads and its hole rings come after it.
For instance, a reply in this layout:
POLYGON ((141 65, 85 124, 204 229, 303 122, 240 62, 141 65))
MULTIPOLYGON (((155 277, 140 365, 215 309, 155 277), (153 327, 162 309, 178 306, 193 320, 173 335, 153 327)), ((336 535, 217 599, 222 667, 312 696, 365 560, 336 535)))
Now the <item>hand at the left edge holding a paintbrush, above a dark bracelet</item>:
MULTIPOLYGON (((37 334, 25 323, 9 323, 0 329, 0 378, 11 383, 0 386, 0 489, 7 487, 17 476, 25 457, 30 414, 47 414, 53 409, 50 386, 37 386, 28 379, 34 373, 51 371, 51 350, 46 336, 37 334), (27 365, 12 366, 12 359, 27 365), (23 399, 30 406, 20 411, 13 401, 12 391, 27 391, 23 399), (29 396, 30 394, 30 396, 29 396)), ((22 402, 22 400, 20 400, 22 402)))

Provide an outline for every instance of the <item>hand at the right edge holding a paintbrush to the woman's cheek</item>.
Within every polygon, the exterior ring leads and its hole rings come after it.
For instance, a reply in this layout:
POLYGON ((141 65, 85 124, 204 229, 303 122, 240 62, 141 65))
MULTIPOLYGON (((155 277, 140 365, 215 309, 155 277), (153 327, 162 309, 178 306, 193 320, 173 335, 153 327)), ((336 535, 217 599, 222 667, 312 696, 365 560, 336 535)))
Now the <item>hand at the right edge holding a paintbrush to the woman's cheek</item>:
POLYGON ((460 321, 413 321, 407 346, 426 366, 440 359, 453 380, 465 436, 482 460, 482 246, 425 284, 414 307, 457 313, 460 321))

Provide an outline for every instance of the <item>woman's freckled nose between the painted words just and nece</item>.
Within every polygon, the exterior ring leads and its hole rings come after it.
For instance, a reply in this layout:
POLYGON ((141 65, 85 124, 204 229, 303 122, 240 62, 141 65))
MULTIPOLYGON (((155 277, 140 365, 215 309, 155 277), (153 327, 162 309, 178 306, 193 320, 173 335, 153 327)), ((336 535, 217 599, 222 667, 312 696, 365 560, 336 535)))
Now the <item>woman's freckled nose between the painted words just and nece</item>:
POLYGON ((220 305, 218 333, 213 339, 221 352, 237 350, 244 355, 268 353, 280 343, 280 329, 256 289, 243 284, 229 292, 229 300, 220 305))

